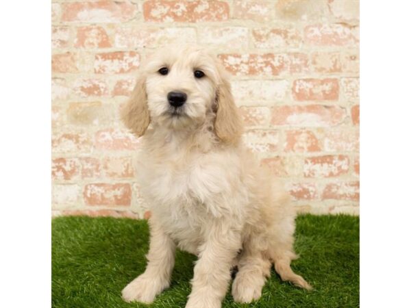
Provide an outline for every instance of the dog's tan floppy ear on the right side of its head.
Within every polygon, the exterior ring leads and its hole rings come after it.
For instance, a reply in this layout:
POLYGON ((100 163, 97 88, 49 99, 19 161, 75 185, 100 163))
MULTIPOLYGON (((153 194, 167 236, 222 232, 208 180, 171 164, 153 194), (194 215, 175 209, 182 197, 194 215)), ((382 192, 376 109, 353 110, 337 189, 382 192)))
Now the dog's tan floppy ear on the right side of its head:
POLYGON ((223 142, 236 143, 242 134, 242 121, 238 107, 234 103, 227 73, 218 66, 221 81, 216 91, 216 118, 214 129, 223 142))

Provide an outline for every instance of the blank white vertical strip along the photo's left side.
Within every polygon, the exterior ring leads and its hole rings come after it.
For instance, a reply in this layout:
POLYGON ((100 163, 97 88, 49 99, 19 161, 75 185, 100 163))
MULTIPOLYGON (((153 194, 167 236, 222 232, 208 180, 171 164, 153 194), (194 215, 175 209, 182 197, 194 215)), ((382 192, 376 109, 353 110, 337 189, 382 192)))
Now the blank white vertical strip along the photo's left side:
POLYGON ((51 306, 51 3, 0 10, 0 307, 51 306))

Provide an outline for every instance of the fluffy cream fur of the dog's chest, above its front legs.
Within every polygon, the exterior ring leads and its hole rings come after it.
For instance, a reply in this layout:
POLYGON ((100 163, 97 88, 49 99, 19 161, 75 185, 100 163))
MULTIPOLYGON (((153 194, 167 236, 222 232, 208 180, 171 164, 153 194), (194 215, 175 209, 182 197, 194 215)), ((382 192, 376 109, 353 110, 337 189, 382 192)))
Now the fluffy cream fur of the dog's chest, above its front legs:
POLYGON ((229 189, 226 167, 216 157, 194 155, 145 166, 145 190, 153 214, 179 248, 198 253, 204 229, 221 210, 219 198, 229 189))

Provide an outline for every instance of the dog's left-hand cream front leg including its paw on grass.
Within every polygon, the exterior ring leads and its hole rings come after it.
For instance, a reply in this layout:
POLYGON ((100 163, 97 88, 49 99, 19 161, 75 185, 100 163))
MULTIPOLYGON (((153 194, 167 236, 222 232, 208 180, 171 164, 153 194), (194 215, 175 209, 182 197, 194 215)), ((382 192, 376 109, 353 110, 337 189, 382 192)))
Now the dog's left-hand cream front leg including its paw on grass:
POLYGON ((155 296, 170 285, 175 243, 164 233, 155 218, 150 218, 149 225, 150 249, 147 255, 147 268, 123 289, 122 296, 126 302, 152 303, 155 296))

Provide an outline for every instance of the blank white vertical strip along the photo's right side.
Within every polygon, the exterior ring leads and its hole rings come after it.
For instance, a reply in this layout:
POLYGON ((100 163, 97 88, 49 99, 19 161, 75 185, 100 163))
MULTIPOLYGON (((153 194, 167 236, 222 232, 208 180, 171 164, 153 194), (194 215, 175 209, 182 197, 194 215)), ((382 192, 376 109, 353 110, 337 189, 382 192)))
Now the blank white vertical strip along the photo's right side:
POLYGON ((361 307, 411 307, 410 7, 360 1, 361 307))

